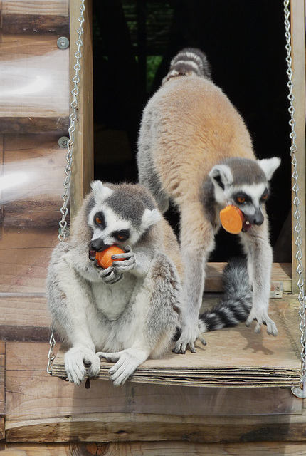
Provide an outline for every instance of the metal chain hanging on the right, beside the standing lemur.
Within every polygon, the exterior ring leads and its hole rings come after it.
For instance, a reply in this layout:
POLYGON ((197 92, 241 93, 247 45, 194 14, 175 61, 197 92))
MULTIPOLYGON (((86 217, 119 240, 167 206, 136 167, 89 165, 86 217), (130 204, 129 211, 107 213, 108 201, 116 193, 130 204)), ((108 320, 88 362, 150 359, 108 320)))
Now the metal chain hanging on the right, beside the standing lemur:
MULTIPOLYGON (((290 147, 290 154, 292 158, 292 180, 293 180, 293 185, 292 185, 292 191, 294 193, 294 199, 293 199, 293 204, 295 206, 295 232, 297 233, 297 237, 295 240, 295 245, 297 247, 296 249, 296 254, 295 254, 295 259, 297 260, 297 275, 298 275, 298 280, 297 280, 297 286, 299 289, 299 296, 298 300, 300 303, 300 343, 301 343, 301 380, 300 380, 300 388, 303 388, 305 380, 306 380, 306 324, 305 324, 305 291, 304 291, 304 278, 303 278, 303 266, 302 266, 302 238, 300 236, 300 233, 302 231, 302 227, 300 224, 300 199, 299 199, 299 186, 298 186, 298 172, 297 172, 297 157, 295 155, 295 152, 297 152, 297 145, 295 143, 295 140, 297 138, 297 135, 295 133, 295 108, 294 108, 294 100, 295 97, 292 93, 293 90, 293 83, 292 83, 292 76, 293 76, 293 71, 292 71, 292 57, 291 57, 291 52, 292 52, 292 47, 291 47, 291 33, 290 33, 290 11, 288 8, 289 5, 289 0, 284 0, 284 13, 285 13, 285 38, 287 41, 287 44, 285 46, 286 51, 287 51, 287 76, 288 76, 288 82, 287 82, 287 87, 289 89, 289 95, 288 95, 288 100, 290 101, 290 108, 289 113, 290 113, 290 120, 289 120, 289 125, 291 127, 291 132, 290 132, 290 138, 291 138, 291 147, 290 147)), ((300 390, 300 388, 298 388, 300 390)), ((298 397, 301 397, 301 393, 297 390, 297 388, 292 388, 292 392, 295 395, 298 395, 298 397)), ((304 393, 305 394, 305 393, 304 393)), ((303 394, 303 397, 304 397, 303 394)))

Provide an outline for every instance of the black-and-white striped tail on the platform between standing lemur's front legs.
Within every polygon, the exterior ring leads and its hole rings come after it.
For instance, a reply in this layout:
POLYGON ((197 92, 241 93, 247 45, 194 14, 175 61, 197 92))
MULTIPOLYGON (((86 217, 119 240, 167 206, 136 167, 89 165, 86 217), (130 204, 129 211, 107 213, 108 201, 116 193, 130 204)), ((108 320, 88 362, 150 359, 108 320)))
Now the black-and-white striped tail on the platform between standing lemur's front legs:
POLYGON ((236 326, 246 321, 252 307, 252 291, 244 259, 231 259, 223 271, 224 296, 221 302, 199 316, 201 333, 236 326))

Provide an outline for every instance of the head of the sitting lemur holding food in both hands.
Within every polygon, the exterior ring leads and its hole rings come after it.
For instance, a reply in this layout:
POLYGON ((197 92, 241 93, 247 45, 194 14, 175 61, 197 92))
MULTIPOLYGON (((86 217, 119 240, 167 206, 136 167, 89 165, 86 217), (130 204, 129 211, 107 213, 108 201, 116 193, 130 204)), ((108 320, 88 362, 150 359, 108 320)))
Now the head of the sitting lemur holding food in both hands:
POLYGON ((133 247, 161 217, 155 207, 145 207, 141 197, 127 194, 122 187, 112 190, 100 181, 93 182, 93 197, 88 203, 88 225, 93 230, 90 259, 111 245, 133 247))

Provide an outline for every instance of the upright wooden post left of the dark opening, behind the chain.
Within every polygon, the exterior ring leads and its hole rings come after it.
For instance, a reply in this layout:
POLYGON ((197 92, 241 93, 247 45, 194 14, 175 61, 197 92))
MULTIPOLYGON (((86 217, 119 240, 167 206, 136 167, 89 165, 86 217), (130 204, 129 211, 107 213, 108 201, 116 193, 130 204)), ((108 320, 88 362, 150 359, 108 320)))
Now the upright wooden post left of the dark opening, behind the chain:
MULTIPOLYGON (((80 0, 70 0, 70 90, 74 88, 75 52, 80 28, 80 0)), ((80 83, 78 83, 78 108, 73 145, 72 180, 70 187, 71 216, 82 204, 83 197, 93 180, 93 40, 91 1, 85 0, 83 46, 80 59, 80 83)), ((71 98, 72 100, 72 95, 71 98)))

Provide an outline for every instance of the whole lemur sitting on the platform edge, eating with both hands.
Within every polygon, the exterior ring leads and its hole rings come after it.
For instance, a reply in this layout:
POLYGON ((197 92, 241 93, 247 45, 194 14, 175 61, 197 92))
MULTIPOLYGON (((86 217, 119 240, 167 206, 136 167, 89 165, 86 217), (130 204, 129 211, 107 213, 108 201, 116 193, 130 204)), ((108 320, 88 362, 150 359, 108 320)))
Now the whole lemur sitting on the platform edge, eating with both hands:
POLYGON ((54 249, 47 276, 53 327, 70 346, 65 370, 79 384, 106 358, 120 385, 172 341, 181 308, 179 244, 139 185, 93 182, 71 232, 54 249), (125 250, 114 258, 125 260, 102 269, 95 252, 113 244, 125 250))

